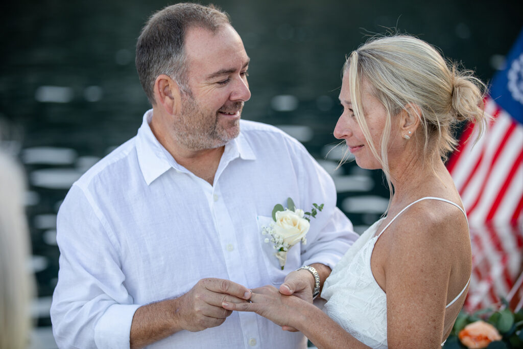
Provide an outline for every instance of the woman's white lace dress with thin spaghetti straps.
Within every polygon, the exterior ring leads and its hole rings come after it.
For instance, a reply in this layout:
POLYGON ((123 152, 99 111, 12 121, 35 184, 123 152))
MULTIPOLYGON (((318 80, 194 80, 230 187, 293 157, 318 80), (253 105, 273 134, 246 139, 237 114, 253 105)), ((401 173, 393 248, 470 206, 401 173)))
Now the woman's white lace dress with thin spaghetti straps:
MULTIPOLYGON (((401 210, 378 235, 376 229, 383 218, 372 224, 350 247, 325 280, 322 291, 322 298, 327 300, 325 313, 357 340, 372 348, 387 348, 386 294, 374 279, 370 268, 374 244, 403 211, 416 202, 427 199, 448 202, 458 207, 467 217, 465 211, 452 201, 437 197, 416 200, 401 210)), ((447 307, 463 294, 468 284, 447 307)))

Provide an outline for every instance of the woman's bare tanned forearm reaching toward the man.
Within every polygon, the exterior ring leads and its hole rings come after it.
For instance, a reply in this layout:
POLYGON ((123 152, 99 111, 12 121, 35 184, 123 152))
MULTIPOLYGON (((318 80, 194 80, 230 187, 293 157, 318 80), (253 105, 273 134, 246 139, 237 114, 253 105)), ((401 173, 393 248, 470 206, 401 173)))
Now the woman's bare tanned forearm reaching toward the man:
POLYGON ((294 328, 302 332, 317 348, 370 348, 351 336, 322 310, 306 302, 296 308, 294 328))

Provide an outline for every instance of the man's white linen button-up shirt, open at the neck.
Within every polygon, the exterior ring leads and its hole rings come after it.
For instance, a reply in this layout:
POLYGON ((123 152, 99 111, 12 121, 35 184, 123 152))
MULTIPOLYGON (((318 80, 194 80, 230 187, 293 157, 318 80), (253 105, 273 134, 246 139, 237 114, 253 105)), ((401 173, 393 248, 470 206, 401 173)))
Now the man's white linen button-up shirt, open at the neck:
MULTIPOLYGON (((225 145, 213 185, 176 163, 145 113, 137 136, 73 184, 58 214, 60 271, 51 307, 61 348, 129 347, 134 312, 176 298, 201 278, 249 288, 279 287, 298 267, 333 267, 357 235, 336 208, 332 178, 302 144, 275 127, 241 121, 225 145), (311 220, 282 271, 259 222, 291 197, 311 220)), ((180 331, 151 348, 304 348, 255 313, 233 312, 219 327, 180 331)))

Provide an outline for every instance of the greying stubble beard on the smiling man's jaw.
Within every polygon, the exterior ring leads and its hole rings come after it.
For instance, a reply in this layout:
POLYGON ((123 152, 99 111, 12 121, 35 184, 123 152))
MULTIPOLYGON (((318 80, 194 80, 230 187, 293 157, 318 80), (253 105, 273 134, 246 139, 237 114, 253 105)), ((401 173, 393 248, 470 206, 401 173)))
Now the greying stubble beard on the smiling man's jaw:
MULTIPOLYGON (((243 102, 232 102, 220 108, 222 111, 238 109, 241 113, 243 102)), ((181 117, 173 126, 178 142, 193 151, 223 147, 240 134, 239 119, 220 120, 217 111, 209 115, 190 93, 182 97, 181 117)))

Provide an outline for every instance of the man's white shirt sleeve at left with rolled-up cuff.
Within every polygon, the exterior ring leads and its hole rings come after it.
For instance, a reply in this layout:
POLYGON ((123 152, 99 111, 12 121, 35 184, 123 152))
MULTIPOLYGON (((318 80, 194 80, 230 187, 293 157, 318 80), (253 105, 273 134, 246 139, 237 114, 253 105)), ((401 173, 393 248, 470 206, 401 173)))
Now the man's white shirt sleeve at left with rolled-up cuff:
POLYGON ((58 284, 51 305, 60 348, 124 348, 140 307, 124 287, 118 241, 101 212, 73 186, 57 220, 58 284))

